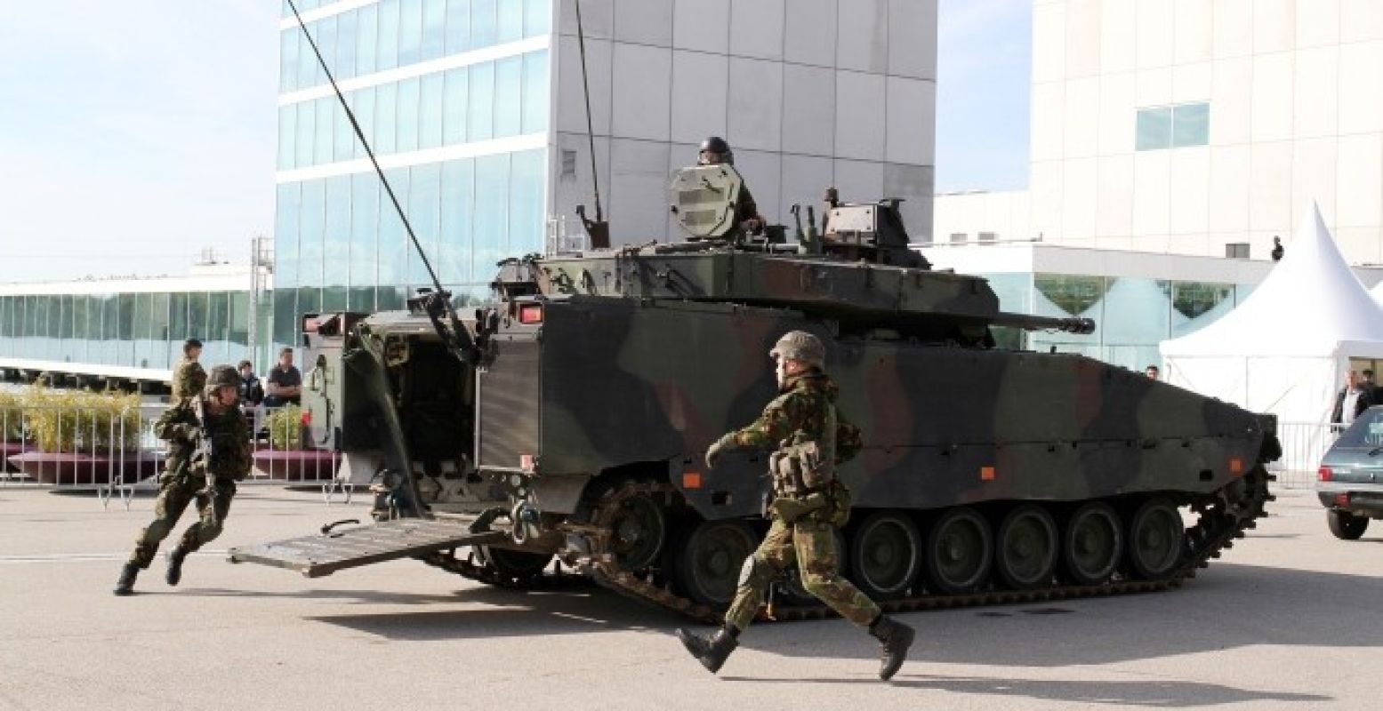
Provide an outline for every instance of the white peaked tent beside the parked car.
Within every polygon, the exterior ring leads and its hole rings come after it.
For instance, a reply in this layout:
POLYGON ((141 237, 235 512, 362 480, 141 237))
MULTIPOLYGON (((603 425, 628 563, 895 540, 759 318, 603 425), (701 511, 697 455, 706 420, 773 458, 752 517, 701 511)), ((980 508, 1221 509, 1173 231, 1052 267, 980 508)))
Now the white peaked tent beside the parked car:
POLYGON ((1350 357, 1383 358, 1383 307, 1312 209, 1238 308, 1160 349, 1174 385, 1282 423, 1326 422, 1350 357))

